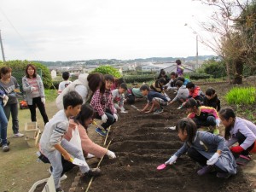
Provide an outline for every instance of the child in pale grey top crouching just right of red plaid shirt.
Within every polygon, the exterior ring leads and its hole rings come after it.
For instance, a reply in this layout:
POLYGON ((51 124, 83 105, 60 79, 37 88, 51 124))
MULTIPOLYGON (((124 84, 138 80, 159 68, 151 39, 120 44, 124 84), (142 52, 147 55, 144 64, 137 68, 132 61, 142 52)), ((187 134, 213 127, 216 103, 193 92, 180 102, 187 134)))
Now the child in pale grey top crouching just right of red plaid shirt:
POLYGON ((112 90, 112 99, 113 99, 113 106, 115 109, 120 111, 121 113, 126 113, 124 108, 124 100, 125 96, 124 93, 127 90, 127 85, 125 83, 119 84, 119 88, 112 90))

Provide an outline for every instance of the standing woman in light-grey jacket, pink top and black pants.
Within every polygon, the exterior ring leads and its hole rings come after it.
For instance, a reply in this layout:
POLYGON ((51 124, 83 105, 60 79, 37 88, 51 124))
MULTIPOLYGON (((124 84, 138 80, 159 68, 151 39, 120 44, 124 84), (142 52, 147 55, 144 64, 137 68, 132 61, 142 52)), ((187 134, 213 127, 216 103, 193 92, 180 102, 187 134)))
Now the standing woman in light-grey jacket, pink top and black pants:
POLYGON ((22 87, 26 92, 26 101, 28 108, 30 109, 31 120, 37 121, 36 108, 38 107, 44 119, 44 124, 46 124, 49 119, 44 108, 44 84, 40 76, 37 74, 36 67, 32 64, 28 64, 26 66, 26 76, 22 78, 22 87))

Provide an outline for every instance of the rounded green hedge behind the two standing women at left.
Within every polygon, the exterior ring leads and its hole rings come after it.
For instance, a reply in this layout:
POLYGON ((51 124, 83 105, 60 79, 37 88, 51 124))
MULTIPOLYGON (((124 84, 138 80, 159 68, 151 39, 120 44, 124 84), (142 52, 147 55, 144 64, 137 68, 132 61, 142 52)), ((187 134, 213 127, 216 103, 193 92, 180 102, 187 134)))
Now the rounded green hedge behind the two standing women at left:
MULTIPOLYGON (((13 74, 19 74, 20 79, 21 79, 23 76, 25 76, 25 68, 26 68, 26 65, 28 63, 31 63, 37 69, 42 70, 42 80, 43 80, 43 83, 44 83, 44 88, 48 89, 52 84, 52 79, 51 79, 51 76, 50 76, 50 73, 49 73, 49 68, 45 67, 41 63, 34 62, 34 61, 20 61, 20 60, 6 61, 5 63, 3 63, 3 61, 0 61, 0 67, 5 67, 5 66, 11 67, 12 71, 13 71, 13 74)), ((21 82, 19 82, 19 84, 20 83, 21 82)))

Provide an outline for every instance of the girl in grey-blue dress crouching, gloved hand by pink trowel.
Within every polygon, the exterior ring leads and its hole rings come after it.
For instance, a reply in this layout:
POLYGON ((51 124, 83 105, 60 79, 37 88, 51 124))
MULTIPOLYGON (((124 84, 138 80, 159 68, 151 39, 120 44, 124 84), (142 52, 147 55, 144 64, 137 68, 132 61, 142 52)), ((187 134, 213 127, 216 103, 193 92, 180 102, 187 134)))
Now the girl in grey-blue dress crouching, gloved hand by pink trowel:
POLYGON ((224 145, 223 137, 206 131, 196 131, 195 122, 189 118, 180 119, 176 129, 177 136, 184 144, 166 161, 166 165, 172 165, 178 157, 187 152, 192 160, 201 165, 198 175, 204 175, 214 169, 217 171, 217 177, 228 178, 236 174, 236 160, 230 149, 224 145))

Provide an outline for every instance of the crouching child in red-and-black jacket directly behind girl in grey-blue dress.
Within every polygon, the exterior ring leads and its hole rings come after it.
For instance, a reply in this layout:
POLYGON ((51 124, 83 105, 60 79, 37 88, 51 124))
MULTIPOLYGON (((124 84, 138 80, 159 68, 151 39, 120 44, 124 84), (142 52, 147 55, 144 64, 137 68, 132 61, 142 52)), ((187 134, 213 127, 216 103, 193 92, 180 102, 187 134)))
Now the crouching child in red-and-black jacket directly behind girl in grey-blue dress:
POLYGON ((220 119, 215 108, 201 106, 198 100, 190 98, 184 105, 189 113, 188 118, 193 119, 197 128, 209 127, 213 134, 218 135, 220 119), (217 125, 217 126, 216 126, 217 125))

